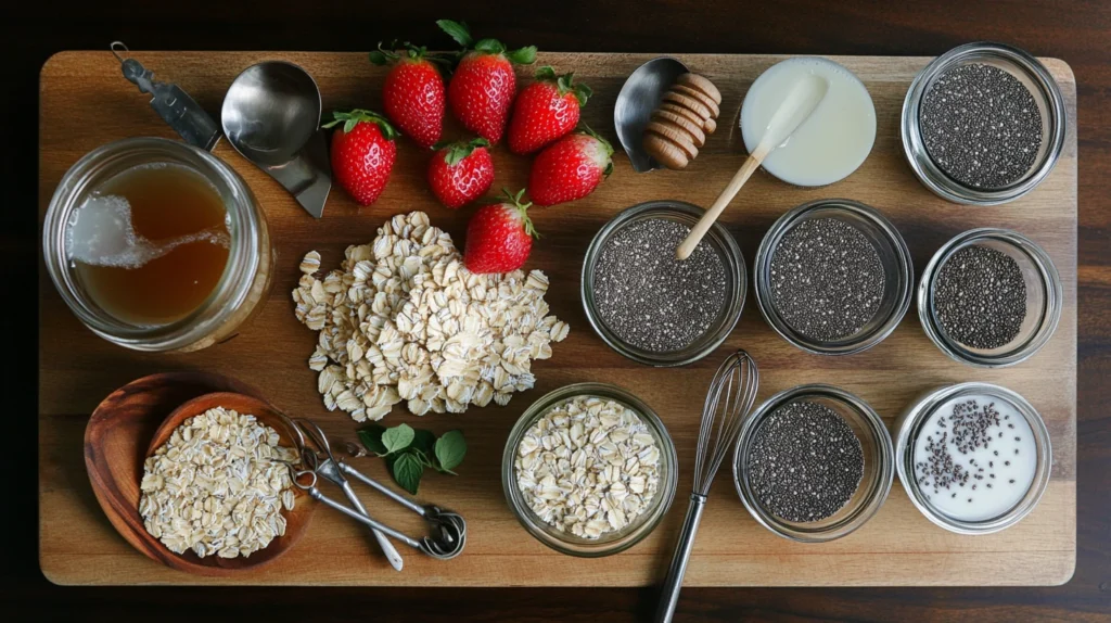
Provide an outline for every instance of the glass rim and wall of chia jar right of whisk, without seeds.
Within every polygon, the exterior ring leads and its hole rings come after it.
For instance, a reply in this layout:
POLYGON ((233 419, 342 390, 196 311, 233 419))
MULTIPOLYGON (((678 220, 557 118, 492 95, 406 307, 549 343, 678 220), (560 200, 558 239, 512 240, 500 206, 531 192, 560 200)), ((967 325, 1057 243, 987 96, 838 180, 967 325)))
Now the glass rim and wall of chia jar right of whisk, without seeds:
POLYGON ((883 420, 864 401, 831 385, 799 385, 768 399, 744 421, 733 452, 733 484, 744 508, 760 525, 800 543, 832 541, 864 525, 888 499, 893 478, 894 450, 883 420), (841 510, 814 522, 792 522, 772 514, 752 490, 747 469, 755 434, 764 420, 787 404, 803 401, 817 402, 841 415, 860 440, 864 454, 864 473, 855 493, 841 510))

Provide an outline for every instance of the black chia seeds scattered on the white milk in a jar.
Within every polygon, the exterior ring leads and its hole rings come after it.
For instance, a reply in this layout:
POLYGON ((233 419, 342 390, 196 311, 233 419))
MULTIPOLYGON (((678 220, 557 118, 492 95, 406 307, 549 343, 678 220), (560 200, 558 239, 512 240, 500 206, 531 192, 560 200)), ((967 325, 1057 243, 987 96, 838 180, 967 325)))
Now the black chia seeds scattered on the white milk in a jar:
MULTIPOLYGON (((1010 415, 1004 415, 1003 419, 1010 419, 1010 415)), ((948 494, 951 498, 958 495, 963 498, 974 496, 972 492, 978 486, 987 489, 1002 486, 1002 479, 995 478, 995 470, 999 469, 995 463, 1000 463, 1000 468, 1005 469, 1010 468, 1011 462, 1000 458, 988 461, 987 465, 981 465, 975 459, 969 459, 968 466, 964 466, 961 464, 963 459, 954 458, 949 451, 949 433, 952 432, 952 444, 961 454, 970 454, 981 448, 990 450, 992 441, 1003 438, 1003 433, 1000 431, 1003 430, 1004 425, 1014 428, 1013 424, 1008 424, 1003 419, 1000 418, 994 402, 981 406, 977 400, 958 403, 953 406, 953 412, 948 419, 938 418, 938 428, 942 430, 941 434, 937 439, 933 435, 925 438, 927 458, 924 461, 914 463, 918 484, 923 493, 932 491, 933 495, 948 494)), ((1021 439, 1015 436, 1014 441, 1021 441, 1021 439)), ((1018 454, 1019 451, 1015 450, 1014 453, 1018 454)), ((997 450, 994 454, 998 456, 999 451, 997 450)), ((1014 484, 1014 480, 1009 479, 1009 484, 1014 484)), ((927 493, 925 499, 930 499, 929 493, 927 493)), ((970 503, 972 500, 973 498, 968 499, 970 503)))

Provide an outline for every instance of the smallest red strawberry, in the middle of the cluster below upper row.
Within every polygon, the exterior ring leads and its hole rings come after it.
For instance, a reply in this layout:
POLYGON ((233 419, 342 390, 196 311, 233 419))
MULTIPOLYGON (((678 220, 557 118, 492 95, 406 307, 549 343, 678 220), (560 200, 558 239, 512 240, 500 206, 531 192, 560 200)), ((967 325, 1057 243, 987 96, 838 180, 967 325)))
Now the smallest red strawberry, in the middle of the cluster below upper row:
POLYGON ((493 183, 493 160, 486 139, 443 147, 428 163, 428 183, 448 208, 460 208, 482 197, 493 183))

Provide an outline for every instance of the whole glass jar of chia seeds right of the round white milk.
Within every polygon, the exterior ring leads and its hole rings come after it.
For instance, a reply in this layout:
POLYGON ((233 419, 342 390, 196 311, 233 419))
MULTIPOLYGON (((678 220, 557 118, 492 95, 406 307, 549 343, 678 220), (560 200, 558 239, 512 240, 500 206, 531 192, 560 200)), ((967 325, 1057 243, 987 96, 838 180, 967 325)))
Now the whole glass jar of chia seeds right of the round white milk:
POLYGON ((1050 174, 1067 125, 1064 98, 1045 66, 1017 48, 975 42, 919 72, 900 133, 925 188, 955 203, 998 205, 1050 174))

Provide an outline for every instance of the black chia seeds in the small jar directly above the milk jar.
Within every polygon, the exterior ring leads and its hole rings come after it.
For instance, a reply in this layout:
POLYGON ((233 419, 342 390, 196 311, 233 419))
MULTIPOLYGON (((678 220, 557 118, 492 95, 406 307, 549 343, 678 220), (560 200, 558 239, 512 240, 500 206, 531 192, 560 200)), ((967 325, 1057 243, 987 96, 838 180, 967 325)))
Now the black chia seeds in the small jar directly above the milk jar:
POLYGON ((965 346, 1007 345, 1027 318, 1027 284, 1019 263, 989 247, 959 249, 938 271, 933 288, 938 321, 965 346))

